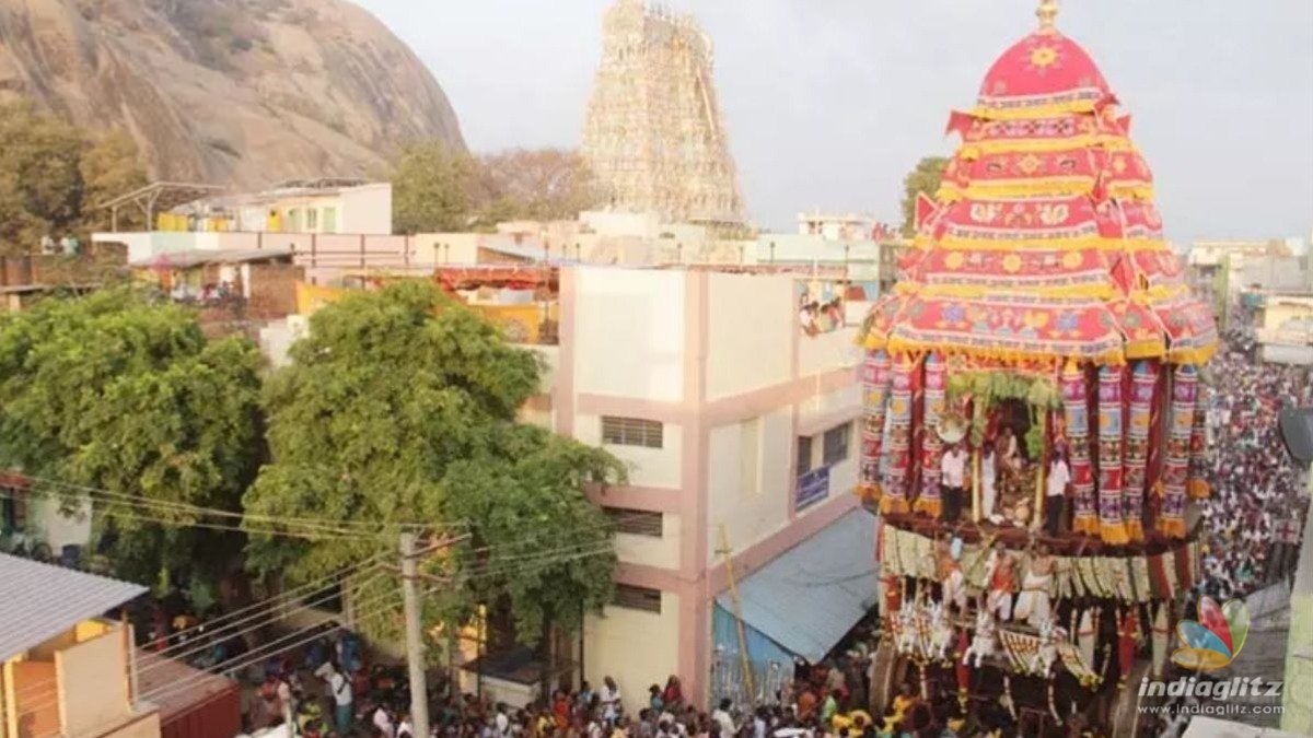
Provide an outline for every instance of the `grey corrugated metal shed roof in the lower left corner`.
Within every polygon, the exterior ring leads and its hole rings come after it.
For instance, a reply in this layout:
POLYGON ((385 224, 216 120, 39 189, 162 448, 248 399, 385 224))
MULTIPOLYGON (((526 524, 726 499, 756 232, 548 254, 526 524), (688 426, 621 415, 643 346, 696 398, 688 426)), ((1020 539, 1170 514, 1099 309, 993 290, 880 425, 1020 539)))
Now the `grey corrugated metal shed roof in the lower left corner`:
POLYGON ((0 554, 0 662, 146 592, 146 587, 0 554))

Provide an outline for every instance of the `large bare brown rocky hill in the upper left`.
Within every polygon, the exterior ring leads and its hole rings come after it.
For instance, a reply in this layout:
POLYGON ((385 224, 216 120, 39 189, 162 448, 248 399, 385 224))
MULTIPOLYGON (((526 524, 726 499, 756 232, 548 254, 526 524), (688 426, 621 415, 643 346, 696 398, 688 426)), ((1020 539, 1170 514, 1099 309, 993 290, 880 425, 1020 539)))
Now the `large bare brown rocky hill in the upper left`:
POLYGON ((0 0, 0 100, 121 126, 151 172, 246 188, 463 148, 441 87, 345 0, 0 0))

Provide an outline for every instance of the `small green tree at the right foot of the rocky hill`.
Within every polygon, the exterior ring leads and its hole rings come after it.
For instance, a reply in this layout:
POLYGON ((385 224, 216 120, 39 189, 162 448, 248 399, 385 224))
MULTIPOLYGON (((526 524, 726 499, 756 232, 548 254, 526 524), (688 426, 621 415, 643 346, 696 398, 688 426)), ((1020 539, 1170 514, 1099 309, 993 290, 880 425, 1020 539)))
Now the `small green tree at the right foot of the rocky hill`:
POLYGON ((402 151, 393 173, 393 227, 399 234, 463 231, 474 164, 440 141, 402 151))

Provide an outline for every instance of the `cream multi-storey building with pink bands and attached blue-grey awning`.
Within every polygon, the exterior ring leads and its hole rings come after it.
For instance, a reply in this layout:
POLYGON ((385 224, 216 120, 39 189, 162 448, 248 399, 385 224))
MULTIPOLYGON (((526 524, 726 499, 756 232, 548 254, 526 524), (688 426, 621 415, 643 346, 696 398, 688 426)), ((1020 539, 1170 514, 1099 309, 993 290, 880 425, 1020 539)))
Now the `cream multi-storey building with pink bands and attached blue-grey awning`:
POLYGON ((586 624, 584 678, 613 676, 626 704, 668 675, 702 705, 733 693, 737 611, 769 691, 876 597, 874 517, 853 494, 856 326, 804 332, 790 274, 572 267, 559 282, 537 419, 632 466, 596 495, 621 565, 614 604, 586 624))

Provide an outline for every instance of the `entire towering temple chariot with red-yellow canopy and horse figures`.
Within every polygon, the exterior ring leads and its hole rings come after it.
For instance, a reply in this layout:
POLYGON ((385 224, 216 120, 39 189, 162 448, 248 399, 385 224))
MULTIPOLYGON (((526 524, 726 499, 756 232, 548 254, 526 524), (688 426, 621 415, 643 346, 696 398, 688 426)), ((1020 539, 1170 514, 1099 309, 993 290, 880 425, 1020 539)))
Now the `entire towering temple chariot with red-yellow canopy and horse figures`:
POLYGON ((1010 735, 1133 735, 1123 687, 1161 672, 1199 579, 1216 324, 1056 16, 949 117, 961 146, 863 327, 872 692, 928 710, 914 726, 947 704, 1010 735))

